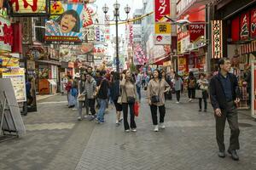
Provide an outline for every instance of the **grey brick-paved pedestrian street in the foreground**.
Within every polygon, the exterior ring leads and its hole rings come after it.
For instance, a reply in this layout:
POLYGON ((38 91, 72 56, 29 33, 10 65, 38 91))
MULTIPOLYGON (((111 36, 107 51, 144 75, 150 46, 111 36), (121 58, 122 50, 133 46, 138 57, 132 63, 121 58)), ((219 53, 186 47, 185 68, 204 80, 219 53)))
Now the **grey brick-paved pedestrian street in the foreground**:
MULTIPOLYGON (((145 100, 137 133, 115 126, 114 111, 106 123, 76 120, 67 96, 40 100, 37 113, 23 116, 26 136, 0 143, 0 169, 256 169, 256 122, 240 113, 240 161, 218 158, 212 107, 198 112, 197 102, 166 102, 166 129, 153 132, 145 100)), ((226 144, 230 131, 227 126, 226 144)))

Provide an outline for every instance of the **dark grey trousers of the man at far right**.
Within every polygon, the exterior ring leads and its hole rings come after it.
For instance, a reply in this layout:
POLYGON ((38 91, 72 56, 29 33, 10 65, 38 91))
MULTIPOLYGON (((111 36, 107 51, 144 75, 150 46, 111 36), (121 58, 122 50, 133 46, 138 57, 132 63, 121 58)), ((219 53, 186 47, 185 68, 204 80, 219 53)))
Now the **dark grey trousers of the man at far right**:
POLYGON ((225 150, 224 145, 224 128, 226 119, 230 125, 230 150, 239 150, 239 127, 236 106, 233 101, 229 102, 225 109, 221 110, 222 116, 216 116, 216 139, 219 151, 225 150))

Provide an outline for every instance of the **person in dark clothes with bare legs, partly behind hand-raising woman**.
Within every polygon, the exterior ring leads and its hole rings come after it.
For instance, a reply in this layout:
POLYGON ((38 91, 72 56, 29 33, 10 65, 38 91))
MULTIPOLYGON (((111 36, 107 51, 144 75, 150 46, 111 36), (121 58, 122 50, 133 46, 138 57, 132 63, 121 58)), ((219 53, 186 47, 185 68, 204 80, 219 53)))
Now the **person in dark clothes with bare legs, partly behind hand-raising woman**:
POLYGON ((119 126, 120 122, 123 120, 121 118, 122 105, 118 103, 119 95, 120 95, 120 76, 119 72, 113 72, 113 78, 110 85, 110 96, 113 99, 113 104, 116 110, 116 125, 119 126))

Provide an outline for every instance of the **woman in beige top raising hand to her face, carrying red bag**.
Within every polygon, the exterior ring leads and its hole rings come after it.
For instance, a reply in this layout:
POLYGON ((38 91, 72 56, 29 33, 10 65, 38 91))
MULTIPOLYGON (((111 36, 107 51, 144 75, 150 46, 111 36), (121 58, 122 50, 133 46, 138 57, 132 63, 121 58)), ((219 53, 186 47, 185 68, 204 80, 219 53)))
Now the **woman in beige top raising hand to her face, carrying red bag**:
POLYGON ((134 120, 135 116, 134 116, 134 109, 133 109, 135 101, 137 99, 137 94, 136 94, 135 79, 132 77, 131 71, 128 71, 128 70, 123 71, 122 81, 120 82, 120 85, 122 90, 121 103, 122 103, 122 109, 124 114, 125 132, 129 133, 130 127, 132 132, 137 132, 137 126, 134 120), (128 106, 130 107, 130 117, 131 117, 130 126, 127 121, 128 106))

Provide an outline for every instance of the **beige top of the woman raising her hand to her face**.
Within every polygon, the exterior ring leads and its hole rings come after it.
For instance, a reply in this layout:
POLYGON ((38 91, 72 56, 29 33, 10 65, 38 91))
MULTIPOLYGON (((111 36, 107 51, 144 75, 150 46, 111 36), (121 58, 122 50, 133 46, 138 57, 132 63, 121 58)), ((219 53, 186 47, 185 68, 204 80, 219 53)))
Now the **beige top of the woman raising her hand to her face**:
POLYGON ((127 103, 127 96, 137 99, 135 84, 124 79, 120 82, 120 86, 122 89, 122 103, 127 103))

